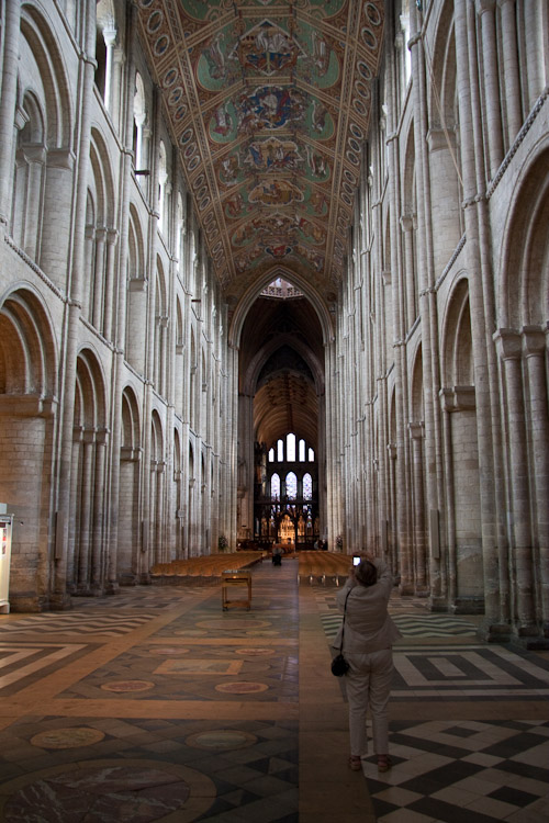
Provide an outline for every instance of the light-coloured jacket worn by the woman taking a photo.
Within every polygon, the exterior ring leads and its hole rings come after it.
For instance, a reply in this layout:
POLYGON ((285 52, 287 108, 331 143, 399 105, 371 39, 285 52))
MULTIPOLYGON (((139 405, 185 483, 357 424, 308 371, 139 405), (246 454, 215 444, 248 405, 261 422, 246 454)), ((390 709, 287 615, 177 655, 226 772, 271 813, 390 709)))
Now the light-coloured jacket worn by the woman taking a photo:
MULTIPOLYGON (((393 576, 388 565, 379 557, 372 563, 378 570, 378 582, 373 586, 362 586, 352 577, 348 577, 336 596, 337 608, 343 612, 349 595, 344 634, 344 654, 347 655, 369 654, 389 649, 402 636, 386 610, 393 576)), ((341 629, 333 646, 339 651, 340 644, 341 629)))

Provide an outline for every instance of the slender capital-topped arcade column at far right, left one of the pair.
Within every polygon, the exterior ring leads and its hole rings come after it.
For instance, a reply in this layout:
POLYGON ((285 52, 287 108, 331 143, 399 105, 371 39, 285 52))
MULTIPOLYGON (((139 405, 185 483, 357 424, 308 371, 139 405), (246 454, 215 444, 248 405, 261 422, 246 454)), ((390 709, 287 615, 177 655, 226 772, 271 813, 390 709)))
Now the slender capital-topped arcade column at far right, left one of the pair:
POLYGON ((534 610, 534 574, 531 554, 530 494, 525 407, 522 375, 522 340, 512 329, 494 335, 503 361, 503 380, 507 406, 509 493, 509 531, 514 537, 516 586, 516 629, 520 636, 537 634, 534 610))

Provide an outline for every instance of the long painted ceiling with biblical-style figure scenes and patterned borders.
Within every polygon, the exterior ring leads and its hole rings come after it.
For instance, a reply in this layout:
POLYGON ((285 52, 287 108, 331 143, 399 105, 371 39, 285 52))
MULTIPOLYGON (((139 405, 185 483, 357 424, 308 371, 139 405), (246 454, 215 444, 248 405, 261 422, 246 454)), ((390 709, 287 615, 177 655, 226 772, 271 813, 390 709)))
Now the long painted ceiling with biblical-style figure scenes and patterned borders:
POLYGON ((137 0, 137 9, 226 297, 283 267, 335 301, 383 0, 137 0))

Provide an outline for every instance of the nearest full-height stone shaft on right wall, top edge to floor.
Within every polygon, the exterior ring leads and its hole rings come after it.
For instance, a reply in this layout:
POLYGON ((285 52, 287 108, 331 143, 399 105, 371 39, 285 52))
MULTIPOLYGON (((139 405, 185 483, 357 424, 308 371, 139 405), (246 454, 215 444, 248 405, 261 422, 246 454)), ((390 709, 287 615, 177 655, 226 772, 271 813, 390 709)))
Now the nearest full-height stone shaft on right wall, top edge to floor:
POLYGON ((490 257, 490 229, 484 196, 485 170, 477 19, 468 0, 455 0, 456 58, 473 340, 477 424, 479 432, 482 557, 485 628, 489 635, 508 631, 508 556, 503 528, 504 495, 497 363, 491 337, 496 315, 490 257))

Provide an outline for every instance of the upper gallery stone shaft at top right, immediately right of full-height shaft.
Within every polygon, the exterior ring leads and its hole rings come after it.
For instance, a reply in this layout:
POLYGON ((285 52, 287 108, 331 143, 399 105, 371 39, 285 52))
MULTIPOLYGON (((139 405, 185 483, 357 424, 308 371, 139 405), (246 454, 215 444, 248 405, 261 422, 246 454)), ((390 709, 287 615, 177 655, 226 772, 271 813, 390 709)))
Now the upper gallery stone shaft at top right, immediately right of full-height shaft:
POLYGON ((482 65, 484 68, 485 134, 489 145, 490 177, 493 180, 503 160, 502 108, 500 72, 497 70, 497 40, 495 35, 495 0, 477 0, 481 19, 482 65))

